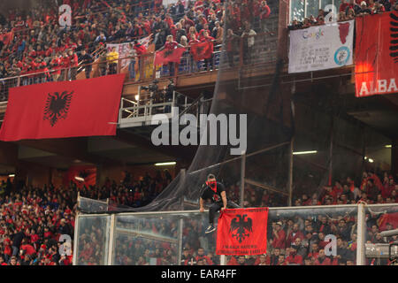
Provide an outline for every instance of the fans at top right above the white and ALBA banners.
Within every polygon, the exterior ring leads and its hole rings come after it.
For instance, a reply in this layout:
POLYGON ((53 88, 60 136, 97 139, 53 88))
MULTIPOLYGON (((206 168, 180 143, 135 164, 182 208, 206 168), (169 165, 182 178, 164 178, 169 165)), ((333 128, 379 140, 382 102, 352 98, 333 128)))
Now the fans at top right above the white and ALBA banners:
MULTIPOLYGON (((398 1, 396 0, 341 0, 341 4, 337 11, 337 21, 344 21, 349 19, 355 19, 365 15, 372 15, 381 13, 384 11, 398 11, 398 1)), ((288 29, 299 29, 311 26, 325 25, 327 14, 330 11, 323 9, 318 10, 318 15, 310 15, 304 18, 302 21, 293 19, 288 29)), ((330 20, 330 19, 329 19, 330 20)))

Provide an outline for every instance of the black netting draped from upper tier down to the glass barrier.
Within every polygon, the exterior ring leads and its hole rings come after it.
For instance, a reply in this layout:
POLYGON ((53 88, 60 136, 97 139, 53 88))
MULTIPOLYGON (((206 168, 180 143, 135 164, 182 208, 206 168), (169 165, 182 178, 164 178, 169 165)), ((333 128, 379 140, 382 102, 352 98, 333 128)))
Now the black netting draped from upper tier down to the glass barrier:
POLYGON ((336 204, 340 200, 331 197, 329 187, 345 186, 354 197, 342 202, 356 203, 352 185, 359 187, 363 173, 390 167, 385 146, 391 140, 364 123, 366 113, 358 114, 378 103, 377 98, 359 99, 342 91, 350 71, 318 73, 324 76, 319 78, 287 75, 287 60, 279 57, 279 50, 287 48, 280 38, 287 34, 280 34, 286 27, 279 28, 283 20, 278 2, 268 3, 270 18, 253 17, 252 37, 241 37, 244 27, 235 27, 225 4, 226 32, 210 113, 247 114, 245 155, 231 155, 235 147, 229 145, 201 145, 189 168, 152 203, 134 209, 110 203, 109 210, 197 209, 210 172, 226 185, 229 197, 245 207, 336 204), (295 203, 297 199, 301 203, 295 203))

